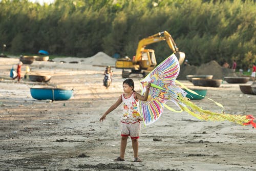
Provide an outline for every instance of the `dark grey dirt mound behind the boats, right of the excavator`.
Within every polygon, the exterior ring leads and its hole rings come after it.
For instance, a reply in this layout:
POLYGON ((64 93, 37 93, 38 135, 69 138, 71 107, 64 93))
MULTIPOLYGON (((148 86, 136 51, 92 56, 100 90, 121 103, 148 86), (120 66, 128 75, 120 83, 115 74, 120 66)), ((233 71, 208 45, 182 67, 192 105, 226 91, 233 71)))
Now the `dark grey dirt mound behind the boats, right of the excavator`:
POLYGON ((201 66, 181 66, 178 79, 186 80, 186 75, 213 75, 212 79, 223 79, 225 76, 237 76, 232 69, 223 68, 215 60, 201 66))

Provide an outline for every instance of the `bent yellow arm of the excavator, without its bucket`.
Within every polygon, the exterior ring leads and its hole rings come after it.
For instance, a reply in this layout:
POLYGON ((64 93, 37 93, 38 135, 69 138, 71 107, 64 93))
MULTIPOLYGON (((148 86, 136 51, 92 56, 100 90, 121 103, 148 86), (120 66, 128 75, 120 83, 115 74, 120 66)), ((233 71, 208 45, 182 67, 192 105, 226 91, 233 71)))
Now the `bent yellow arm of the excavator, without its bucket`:
POLYGON ((136 56, 133 59, 133 61, 137 62, 137 61, 141 60, 142 52, 144 51, 144 49, 147 45, 154 44, 155 42, 159 42, 159 41, 163 41, 163 40, 165 40, 167 42, 169 48, 172 49, 172 51, 174 53, 179 51, 179 49, 177 48, 177 46, 175 44, 173 37, 167 31, 163 31, 163 32, 154 34, 152 36, 148 36, 146 38, 141 39, 139 41, 137 51, 136 51, 136 56))

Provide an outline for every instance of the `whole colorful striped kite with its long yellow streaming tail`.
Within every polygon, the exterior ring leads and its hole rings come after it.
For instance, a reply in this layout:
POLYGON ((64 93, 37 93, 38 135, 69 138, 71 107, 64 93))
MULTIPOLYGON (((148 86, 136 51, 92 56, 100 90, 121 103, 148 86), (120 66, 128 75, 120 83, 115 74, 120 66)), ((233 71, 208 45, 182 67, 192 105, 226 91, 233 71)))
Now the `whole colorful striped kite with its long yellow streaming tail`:
MULTIPOLYGON (((145 78, 140 80, 142 94, 146 91, 146 85, 151 82, 151 90, 148 94, 147 101, 140 101, 140 114, 144 119, 144 124, 148 125, 157 121, 163 113, 163 108, 167 108, 173 112, 185 111, 188 114, 201 119, 210 121, 230 121, 241 125, 251 124, 256 128, 255 119, 252 115, 230 115, 222 113, 215 113, 208 110, 203 110, 195 105, 193 102, 186 98, 186 92, 182 90, 175 83, 180 84, 181 87, 188 90, 191 93, 196 92, 187 89, 182 83, 176 80, 179 75, 180 65, 175 54, 167 57, 160 63, 153 71, 151 71, 145 78), (165 103, 172 101, 178 106, 179 111, 170 108, 165 103)), ((198 95, 198 94, 197 94, 198 95)), ((200 95, 199 95, 200 96, 200 95)), ((208 98, 209 99, 209 98, 208 98)), ((212 100, 212 99, 209 99, 212 100)), ((212 100, 214 101, 214 100, 212 100)), ((215 102, 215 101, 214 101, 215 102)), ((220 103, 215 102, 217 105, 223 106, 220 103)))

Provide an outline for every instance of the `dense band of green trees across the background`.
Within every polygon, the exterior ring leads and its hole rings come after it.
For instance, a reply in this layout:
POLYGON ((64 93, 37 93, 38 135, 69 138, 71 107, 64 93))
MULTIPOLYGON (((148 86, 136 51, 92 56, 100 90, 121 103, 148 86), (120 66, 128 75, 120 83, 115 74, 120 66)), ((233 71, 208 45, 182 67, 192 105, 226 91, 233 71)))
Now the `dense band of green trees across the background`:
MULTIPOLYGON (((0 20, 0 45, 12 53, 132 57, 140 39, 166 30, 193 65, 236 59, 247 70, 256 61, 253 0, 2 0, 0 20)), ((173 53, 164 41, 146 48, 157 62, 173 53)))

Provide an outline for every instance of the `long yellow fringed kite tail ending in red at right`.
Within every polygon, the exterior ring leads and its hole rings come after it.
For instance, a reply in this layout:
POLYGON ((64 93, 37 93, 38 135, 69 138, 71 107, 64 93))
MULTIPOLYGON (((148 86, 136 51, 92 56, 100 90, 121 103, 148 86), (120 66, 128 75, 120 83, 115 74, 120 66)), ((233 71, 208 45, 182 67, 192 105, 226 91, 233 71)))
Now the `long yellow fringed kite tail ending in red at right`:
POLYGON ((188 114, 200 119, 200 120, 210 120, 210 121, 230 121, 234 123, 238 123, 241 125, 249 125, 251 124, 256 128, 256 123, 253 122, 255 119, 252 115, 230 115, 223 113, 215 113, 208 110, 203 110, 198 107, 193 102, 187 100, 186 97, 179 96, 180 108, 186 111, 188 114), (183 104, 182 104, 183 103, 183 104), (184 105, 185 104, 185 105, 184 105), (189 107, 189 108, 188 108, 189 107))

